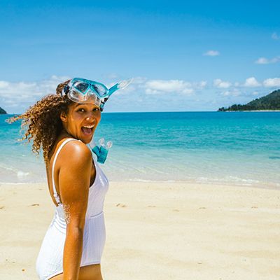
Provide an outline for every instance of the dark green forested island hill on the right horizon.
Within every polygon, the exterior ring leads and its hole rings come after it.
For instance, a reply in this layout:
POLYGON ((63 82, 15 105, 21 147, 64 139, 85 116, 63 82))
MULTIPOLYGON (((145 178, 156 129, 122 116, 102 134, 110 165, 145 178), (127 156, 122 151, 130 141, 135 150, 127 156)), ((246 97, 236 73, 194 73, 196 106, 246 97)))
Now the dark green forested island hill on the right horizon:
POLYGON ((234 104, 228 108, 219 108, 218 111, 276 111, 280 110, 280 90, 274 90, 264 97, 254 99, 253 101, 241 105, 234 104))

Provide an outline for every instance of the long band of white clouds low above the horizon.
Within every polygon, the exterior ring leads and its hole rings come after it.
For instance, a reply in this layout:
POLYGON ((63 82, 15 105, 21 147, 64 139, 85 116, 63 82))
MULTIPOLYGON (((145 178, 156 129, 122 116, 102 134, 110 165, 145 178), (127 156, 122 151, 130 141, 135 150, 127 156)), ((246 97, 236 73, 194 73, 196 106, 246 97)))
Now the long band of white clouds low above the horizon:
MULTIPOLYGON (((69 79, 69 77, 51 76, 45 80, 34 82, 20 81, 18 83, 0 80, 1 107, 6 109, 8 113, 20 113, 25 111, 31 104, 34 104, 36 100, 41 99, 45 94, 54 94, 57 84, 67 79, 69 79)), ((113 84, 114 83, 111 83, 108 86, 113 84)), ((141 108, 139 106, 142 104, 141 106, 147 106, 147 110, 157 111, 170 102, 170 93, 174 94, 176 97, 172 99, 172 106, 174 105, 174 108, 179 108, 182 104, 186 103, 184 101, 188 99, 190 106, 196 106, 196 109, 201 109, 204 108, 203 106, 208 108, 207 106, 210 104, 209 99, 205 99, 204 97, 207 97, 207 94, 212 94, 211 92, 213 92, 213 94, 216 92, 216 96, 213 96, 214 102, 216 102, 216 99, 218 100, 222 97, 222 99, 235 102, 235 100, 244 97, 251 99, 256 98, 260 96, 260 92, 267 92, 269 87, 280 87, 280 78, 267 78, 259 81, 255 77, 249 77, 243 81, 241 80, 241 82, 218 78, 207 83, 207 80, 190 82, 188 80, 179 79, 153 80, 145 77, 136 77, 129 87, 115 93, 116 95, 120 95, 115 99, 118 106, 116 107, 116 103, 114 104, 114 102, 109 102, 108 109, 110 111, 110 109, 113 109, 113 106, 115 106, 116 111, 125 111, 125 106, 128 106, 126 104, 130 104, 130 108, 134 110, 141 108), (147 98, 146 94, 149 94, 153 99, 153 107, 149 107, 147 100, 150 99, 147 98), (197 98, 201 99, 201 102, 198 102, 200 104, 196 103, 197 98), (123 104, 123 107, 119 106, 120 103, 123 104), (139 103, 141 104, 139 105, 139 103), (111 107, 109 104, 111 104, 111 107)), ((269 93, 269 90, 267 93, 269 93)))

